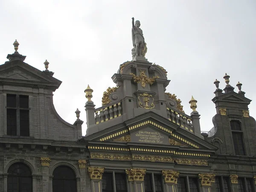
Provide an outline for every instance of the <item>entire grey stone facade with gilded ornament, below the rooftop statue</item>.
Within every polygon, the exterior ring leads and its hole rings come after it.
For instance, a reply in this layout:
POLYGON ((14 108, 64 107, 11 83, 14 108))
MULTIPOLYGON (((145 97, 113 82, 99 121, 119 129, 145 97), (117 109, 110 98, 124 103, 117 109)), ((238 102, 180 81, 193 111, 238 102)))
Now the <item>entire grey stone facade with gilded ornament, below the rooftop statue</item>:
POLYGON ((95 108, 85 90, 87 133, 55 111, 61 81, 9 54, 0 65, 0 191, 256 192, 256 122, 251 100, 224 76, 216 86, 214 127, 201 134, 197 101, 185 114, 166 93, 167 71, 145 58, 120 65, 116 87, 95 108), (58 133, 58 134, 57 134, 58 133))

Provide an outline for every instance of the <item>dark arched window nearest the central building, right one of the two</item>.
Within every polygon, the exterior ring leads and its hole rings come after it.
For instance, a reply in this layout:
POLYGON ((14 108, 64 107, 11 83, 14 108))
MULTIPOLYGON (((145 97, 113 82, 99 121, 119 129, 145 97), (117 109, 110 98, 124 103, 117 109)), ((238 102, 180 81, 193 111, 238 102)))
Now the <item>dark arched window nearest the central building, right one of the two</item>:
POLYGON ((68 166, 58 166, 53 171, 52 192, 77 192, 76 175, 68 166))

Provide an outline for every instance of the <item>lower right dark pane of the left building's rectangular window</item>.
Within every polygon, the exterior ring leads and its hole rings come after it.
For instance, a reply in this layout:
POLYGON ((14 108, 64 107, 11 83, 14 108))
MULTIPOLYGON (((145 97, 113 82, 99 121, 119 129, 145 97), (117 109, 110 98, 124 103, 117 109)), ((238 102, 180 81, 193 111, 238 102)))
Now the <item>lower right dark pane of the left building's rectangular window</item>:
POLYGON ((29 136, 29 110, 20 110, 20 136, 29 136))

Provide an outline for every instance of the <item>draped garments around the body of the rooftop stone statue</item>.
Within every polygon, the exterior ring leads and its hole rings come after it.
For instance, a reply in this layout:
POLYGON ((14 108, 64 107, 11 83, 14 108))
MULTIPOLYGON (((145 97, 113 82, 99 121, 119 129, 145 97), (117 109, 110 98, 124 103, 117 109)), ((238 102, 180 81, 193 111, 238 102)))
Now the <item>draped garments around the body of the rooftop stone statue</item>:
POLYGON ((145 43, 144 37, 143 37, 143 31, 139 27, 134 27, 131 29, 132 34, 132 44, 134 48, 136 47, 135 44, 139 43, 142 44, 142 52, 141 55, 145 57, 145 54, 147 52, 147 44, 145 43))

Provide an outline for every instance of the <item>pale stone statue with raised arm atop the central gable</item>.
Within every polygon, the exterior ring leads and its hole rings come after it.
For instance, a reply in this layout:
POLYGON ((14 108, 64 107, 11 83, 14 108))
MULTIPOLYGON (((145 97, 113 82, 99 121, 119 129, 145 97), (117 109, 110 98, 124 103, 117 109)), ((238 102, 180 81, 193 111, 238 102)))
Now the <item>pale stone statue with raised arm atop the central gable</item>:
POLYGON ((132 58, 134 59, 137 56, 145 57, 145 54, 147 52, 147 46, 146 46, 147 44, 145 43, 143 32, 140 29, 140 21, 139 20, 135 21, 135 25, 134 25, 134 17, 132 17, 131 19, 132 19, 132 30, 131 30, 132 44, 134 46, 134 48, 131 49, 132 58))

